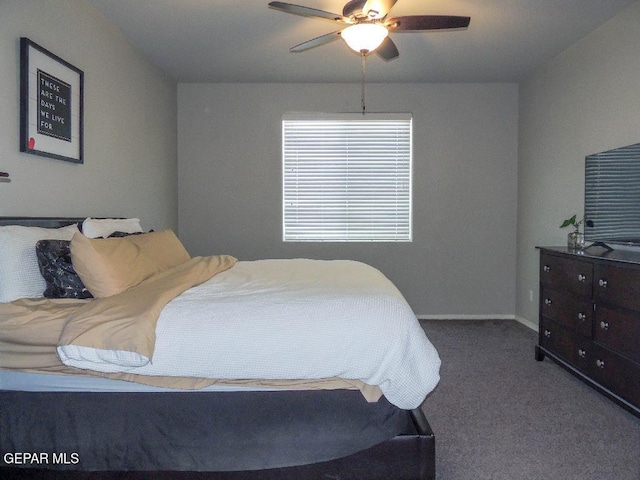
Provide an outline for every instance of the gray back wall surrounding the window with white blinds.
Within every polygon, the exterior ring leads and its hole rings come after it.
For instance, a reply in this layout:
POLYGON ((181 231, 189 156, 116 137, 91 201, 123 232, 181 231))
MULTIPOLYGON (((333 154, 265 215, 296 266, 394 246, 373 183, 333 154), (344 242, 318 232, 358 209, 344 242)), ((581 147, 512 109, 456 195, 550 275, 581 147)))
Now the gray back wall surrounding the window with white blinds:
POLYGON ((416 314, 515 311, 515 84, 367 85, 367 111, 412 112, 412 243, 283 243, 281 117, 359 111, 359 84, 178 85, 179 226, 192 254, 347 258, 416 314))

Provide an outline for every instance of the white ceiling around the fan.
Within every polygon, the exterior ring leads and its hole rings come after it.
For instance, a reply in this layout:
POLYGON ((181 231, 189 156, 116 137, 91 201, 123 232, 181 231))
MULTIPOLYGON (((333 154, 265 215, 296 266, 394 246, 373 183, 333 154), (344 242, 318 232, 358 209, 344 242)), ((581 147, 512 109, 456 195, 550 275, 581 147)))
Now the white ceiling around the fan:
MULTIPOLYGON (((178 82, 358 82, 359 56, 339 29, 269 0, 89 0, 178 82)), ((367 82, 517 82, 637 0, 399 0, 390 17, 464 15, 466 30, 394 33, 400 57, 367 59, 367 82)), ((342 13, 346 0, 291 3, 342 13)))

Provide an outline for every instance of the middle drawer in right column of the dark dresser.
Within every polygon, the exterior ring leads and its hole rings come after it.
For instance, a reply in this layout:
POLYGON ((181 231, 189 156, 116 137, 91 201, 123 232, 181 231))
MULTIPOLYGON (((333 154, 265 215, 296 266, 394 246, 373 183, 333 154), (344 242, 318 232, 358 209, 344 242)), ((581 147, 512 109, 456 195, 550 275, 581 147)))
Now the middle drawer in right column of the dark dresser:
MULTIPOLYGON (((640 295, 640 292, 639 292, 640 295)), ((640 363, 640 314, 598 305, 593 338, 605 347, 640 363)))

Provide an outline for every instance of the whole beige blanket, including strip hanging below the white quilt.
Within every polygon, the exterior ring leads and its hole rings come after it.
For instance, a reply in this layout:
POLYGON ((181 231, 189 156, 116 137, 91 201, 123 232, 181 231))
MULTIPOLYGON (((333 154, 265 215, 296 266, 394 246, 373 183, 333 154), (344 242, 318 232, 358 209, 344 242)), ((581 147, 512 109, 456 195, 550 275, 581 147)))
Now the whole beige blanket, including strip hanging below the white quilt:
POLYGON ((152 358, 162 308, 188 288, 231 268, 230 256, 195 257, 111 297, 94 300, 21 299, 0 304, 0 368, 39 373, 99 376, 157 387, 199 389, 210 385, 286 389, 359 389, 368 401, 377 386, 340 378, 318 380, 218 380, 101 373, 64 365, 59 345, 137 352, 152 358))

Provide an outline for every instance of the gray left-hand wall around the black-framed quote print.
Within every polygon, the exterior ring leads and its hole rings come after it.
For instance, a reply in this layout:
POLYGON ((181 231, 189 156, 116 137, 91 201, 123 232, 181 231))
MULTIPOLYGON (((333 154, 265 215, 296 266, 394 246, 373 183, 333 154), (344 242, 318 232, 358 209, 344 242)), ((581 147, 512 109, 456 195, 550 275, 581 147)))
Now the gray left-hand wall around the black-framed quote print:
POLYGON ((0 1, 0 215, 177 227, 176 84, 85 0, 0 1), (19 152, 20 37, 84 71, 85 163, 19 152))

